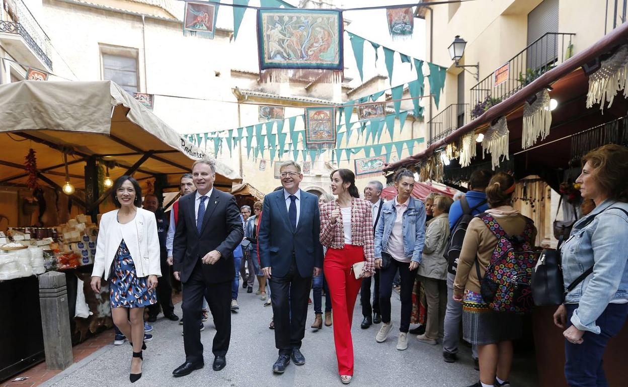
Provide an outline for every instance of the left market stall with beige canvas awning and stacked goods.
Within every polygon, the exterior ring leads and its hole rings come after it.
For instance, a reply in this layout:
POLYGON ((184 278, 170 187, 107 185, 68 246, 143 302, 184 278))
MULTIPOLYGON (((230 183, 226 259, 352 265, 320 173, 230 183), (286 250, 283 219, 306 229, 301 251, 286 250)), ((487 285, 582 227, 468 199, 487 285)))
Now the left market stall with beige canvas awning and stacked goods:
MULTIPOLYGON (((111 327, 107 297, 93 294, 89 278, 98 215, 114 208, 112 181, 132 175, 161 197, 178 191, 195 159, 213 159, 110 81, 0 85, 0 143, 0 329, 35 338, 28 353, 2 338, 3 380, 43 359, 38 299, 26 297, 37 293, 33 274, 66 273, 73 343, 111 327), (9 299, 16 294, 23 304, 9 299)), ((240 181, 220 162, 215 169, 218 189, 240 181)))

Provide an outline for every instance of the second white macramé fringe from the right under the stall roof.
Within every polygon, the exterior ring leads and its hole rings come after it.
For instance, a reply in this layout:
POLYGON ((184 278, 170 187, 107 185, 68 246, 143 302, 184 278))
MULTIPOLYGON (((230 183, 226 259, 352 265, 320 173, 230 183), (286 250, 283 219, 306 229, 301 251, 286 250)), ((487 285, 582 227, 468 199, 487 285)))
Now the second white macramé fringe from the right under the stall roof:
POLYGON ((551 111, 549 110, 549 92, 546 89, 536 93, 536 101, 523 105, 523 129, 521 135, 522 149, 529 148, 541 136, 541 140, 549 134, 551 127, 551 111))

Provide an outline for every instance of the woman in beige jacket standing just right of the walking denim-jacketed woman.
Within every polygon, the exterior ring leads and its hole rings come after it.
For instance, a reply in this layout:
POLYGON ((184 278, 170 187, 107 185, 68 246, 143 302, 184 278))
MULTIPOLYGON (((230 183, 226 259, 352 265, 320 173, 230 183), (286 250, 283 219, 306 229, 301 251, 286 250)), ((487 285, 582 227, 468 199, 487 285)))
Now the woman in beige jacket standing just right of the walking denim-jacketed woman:
POLYGON ((447 309, 447 259, 445 245, 449 239, 449 208, 453 199, 449 196, 436 196, 432 207, 430 225, 425 231, 423 262, 418 271, 418 278, 423 283, 428 305, 425 334, 416 339, 426 344, 436 345, 436 340, 443 337, 445 310, 447 309))

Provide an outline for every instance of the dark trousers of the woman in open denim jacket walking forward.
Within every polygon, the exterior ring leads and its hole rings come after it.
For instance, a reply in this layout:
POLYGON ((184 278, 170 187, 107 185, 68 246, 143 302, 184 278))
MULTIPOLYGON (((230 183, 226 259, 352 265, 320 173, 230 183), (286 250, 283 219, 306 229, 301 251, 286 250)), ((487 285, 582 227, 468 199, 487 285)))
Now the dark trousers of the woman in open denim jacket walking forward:
POLYGON ((399 332, 408 333, 410 329, 410 315, 412 314, 412 288, 414 287, 414 278, 416 278, 418 268, 410 271, 409 262, 399 262, 391 258, 390 265, 387 268, 382 268, 380 273, 379 308, 382 312, 382 322, 386 322, 386 324, 391 322, 391 295, 393 295, 393 280, 397 270, 399 270, 399 277, 401 277, 401 290, 399 290, 401 322, 399 322, 399 332))

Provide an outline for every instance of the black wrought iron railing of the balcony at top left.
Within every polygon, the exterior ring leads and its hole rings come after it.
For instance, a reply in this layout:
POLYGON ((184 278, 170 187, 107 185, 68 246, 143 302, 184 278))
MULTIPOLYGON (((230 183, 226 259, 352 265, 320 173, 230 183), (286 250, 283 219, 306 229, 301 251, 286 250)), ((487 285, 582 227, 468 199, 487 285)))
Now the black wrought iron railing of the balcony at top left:
POLYGON ((48 69, 52 70, 50 38, 22 0, 11 2, 10 7, 9 16, 13 21, 0 20, 0 33, 21 36, 41 61, 48 66, 48 69))

